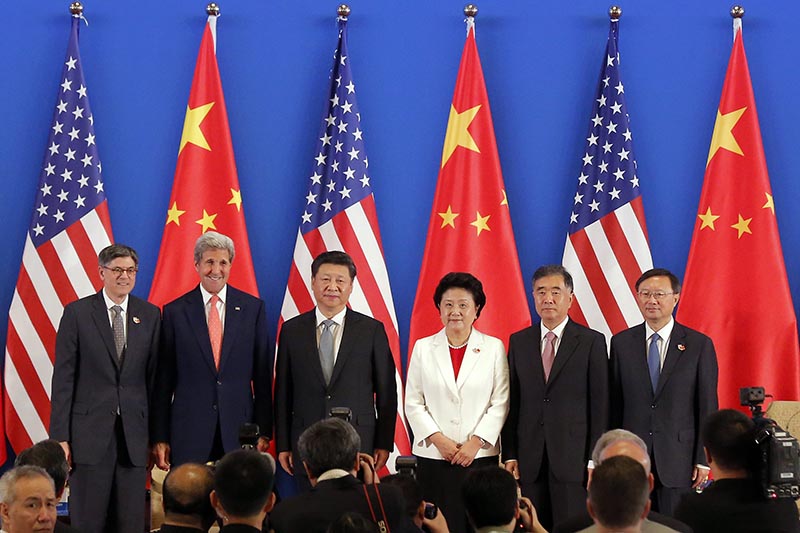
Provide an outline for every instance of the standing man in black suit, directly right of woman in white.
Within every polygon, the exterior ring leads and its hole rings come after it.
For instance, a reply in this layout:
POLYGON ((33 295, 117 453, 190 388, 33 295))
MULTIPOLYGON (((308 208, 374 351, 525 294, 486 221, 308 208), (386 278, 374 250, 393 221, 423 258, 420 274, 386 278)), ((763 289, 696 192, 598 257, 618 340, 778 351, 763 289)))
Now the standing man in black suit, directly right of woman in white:
POLYGON ((561 265, 533 274, 541 323, 511 336, 503 462, 546 529, 586 508, 586 465, 608 424, 608 356, 602 333, 567 316, 572 276, 561 265))

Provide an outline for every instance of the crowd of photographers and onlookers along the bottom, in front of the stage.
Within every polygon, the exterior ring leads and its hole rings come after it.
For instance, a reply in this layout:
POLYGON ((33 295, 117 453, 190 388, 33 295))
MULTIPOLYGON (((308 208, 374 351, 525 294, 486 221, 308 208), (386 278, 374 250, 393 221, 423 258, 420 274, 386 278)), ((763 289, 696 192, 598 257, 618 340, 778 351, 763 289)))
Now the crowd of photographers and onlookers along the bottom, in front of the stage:
MULTIPOLYGON (((753 421, 725 409, 706 420, 702 438, 714 482, 686 496, 675 517, 650 510, 653 474, 645 443, 625 430, 606 432, 592 454, 586 510, 554 531, 736 532, 800 531, 790 498, 768 499, 758 479, 759 449, 753 421)), ((445 517, 426 502, 413 462, 378 479, 372 457, 340 418, 321 420, 298 443, 308 492, 276 504, 275 461, 253 449, 226 454, 213 466, 185 463, 163 483, 161 533, 447 533, 445 517)), ((0 478, 4 533, 76 531, 56 520, 68 466, 61 446, 42 441, 22 452, 0 478)), ((469 473, 460 497, 480 533, 546 530, 535 504, 520 494, 514 476, 499 465, 469 473)))

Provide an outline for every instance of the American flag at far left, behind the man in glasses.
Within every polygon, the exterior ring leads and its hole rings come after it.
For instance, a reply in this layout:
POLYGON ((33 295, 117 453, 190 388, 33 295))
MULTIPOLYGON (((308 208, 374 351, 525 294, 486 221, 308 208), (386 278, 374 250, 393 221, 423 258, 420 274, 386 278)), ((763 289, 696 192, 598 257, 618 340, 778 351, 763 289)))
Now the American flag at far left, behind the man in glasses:
MULTIPOLYGON (((101 286, 97 254, 112 241, 73 15, 66 61, 22 266, 9 310, 5 430, 15 452, 47 438, 56 329, 64 306, 101 286)), ((3 450, 5 447, 3 447, 3 450)))

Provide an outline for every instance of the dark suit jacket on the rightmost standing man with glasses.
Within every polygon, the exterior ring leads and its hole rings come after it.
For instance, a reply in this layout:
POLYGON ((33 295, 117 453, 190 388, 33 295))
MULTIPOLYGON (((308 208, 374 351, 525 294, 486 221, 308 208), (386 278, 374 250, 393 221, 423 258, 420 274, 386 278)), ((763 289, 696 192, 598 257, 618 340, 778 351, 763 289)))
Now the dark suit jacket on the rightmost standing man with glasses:
POLYGON ((711 339, 675 322, 658 386, 647 366, 645 326, 611 338, 611 424, 647 444, 665 487, 691 485, 705 464, 700 427, 717 410, 717 356, 711 339))

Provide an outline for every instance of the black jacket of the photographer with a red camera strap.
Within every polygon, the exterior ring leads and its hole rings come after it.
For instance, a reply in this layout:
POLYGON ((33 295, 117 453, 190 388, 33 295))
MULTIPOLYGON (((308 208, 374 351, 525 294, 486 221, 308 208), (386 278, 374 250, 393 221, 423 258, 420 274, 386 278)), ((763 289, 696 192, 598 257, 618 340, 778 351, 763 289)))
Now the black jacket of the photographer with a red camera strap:
MULTIPOLYGON (((391 531, 400 531, 405 518, 403 493, 398 487, 380 487, 381 501, 391 531)), ((364 484, 353 476, 317 483, 310 492, 284 500, 270 514, 275 533, 325 533, 331 522, 347 512, 356 512, 372 519, 364 484)), ((373 506, 376 501, 374 494, 373 506)), ((380 511, 375 509, 376 515, 380 511)))

